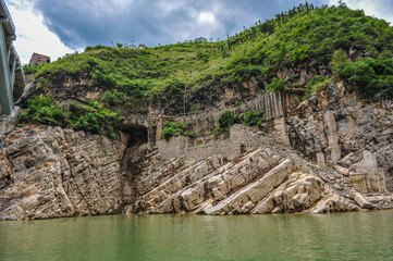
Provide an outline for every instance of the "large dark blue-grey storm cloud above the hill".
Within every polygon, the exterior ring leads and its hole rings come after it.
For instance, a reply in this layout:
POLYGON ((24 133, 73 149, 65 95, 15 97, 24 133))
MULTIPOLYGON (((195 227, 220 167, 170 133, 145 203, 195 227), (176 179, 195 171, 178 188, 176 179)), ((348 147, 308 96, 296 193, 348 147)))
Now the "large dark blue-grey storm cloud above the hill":
MULTIPOLYGON (((34 0, 70 48, 224 38, 304 0, 34 0)), ((312 1, 309 1, 312 2, 312 1)), ((322 1, 320 1, 322 2, 322 1)))

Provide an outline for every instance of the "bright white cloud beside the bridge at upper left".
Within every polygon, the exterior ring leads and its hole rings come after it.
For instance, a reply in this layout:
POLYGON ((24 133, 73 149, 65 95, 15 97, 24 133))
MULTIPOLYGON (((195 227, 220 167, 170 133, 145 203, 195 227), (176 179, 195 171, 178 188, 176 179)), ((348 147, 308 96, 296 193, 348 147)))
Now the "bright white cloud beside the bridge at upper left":
POLYGON ((22 63, 28 63, 33 52, 49 55, 52 61, 65 53, 74 52, 60 41, 59 37, 44 25, 42 15, 33 11, 27 0, 7 1, 16 27, 16 40, 13 42, 22 63))

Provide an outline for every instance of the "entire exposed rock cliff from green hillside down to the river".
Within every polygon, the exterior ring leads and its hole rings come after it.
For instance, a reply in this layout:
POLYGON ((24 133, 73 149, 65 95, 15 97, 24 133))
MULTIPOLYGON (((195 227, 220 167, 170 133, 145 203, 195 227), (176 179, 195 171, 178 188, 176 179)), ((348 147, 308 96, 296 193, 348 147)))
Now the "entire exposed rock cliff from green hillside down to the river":
MULTIPOLYGON (((366 103, 341 83, 293 101, 257 97, 244 110, 272 117, 265 133, 235 125, 230 140, 193 148, 182 137, 125 148, 60 127, 16 128, 0 150, 0 220, 392 208, 393 102, 366 103)), ((191 120, 204 134, 221 113, 191 120)))

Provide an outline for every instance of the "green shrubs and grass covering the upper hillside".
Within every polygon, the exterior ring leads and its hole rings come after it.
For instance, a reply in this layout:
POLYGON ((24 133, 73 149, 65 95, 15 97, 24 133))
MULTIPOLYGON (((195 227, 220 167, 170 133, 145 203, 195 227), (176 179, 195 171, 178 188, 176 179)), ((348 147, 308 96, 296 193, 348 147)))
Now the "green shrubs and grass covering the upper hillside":
POLYGON ((392 58, 393 28, 385 21, 345 4, 305 3, 225 40, 142 50, 87 47, 83 53, 29 70, 40 95, 50 95, 46 90, 69 75, 101 89, 96 101, 106 108, 136 108, 155 100, 189 111, 195 110, 197 91, 231 88, 249 97, 244 82, 251 78, 261 91, 303 89, 303 99, 337 77, 366 99, 393 98, 392 58), (319 75, 304 83, 299 72, 310 67, 319 75), (285 69, 293 73, 282 76, 285 69))

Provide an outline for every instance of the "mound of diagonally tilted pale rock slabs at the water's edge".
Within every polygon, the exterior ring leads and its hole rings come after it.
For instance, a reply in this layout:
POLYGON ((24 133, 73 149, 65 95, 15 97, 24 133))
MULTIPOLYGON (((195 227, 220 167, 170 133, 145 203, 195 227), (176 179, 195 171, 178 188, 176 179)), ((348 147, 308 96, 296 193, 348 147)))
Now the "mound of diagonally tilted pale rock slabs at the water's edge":
POLYGON ((360 208, 373 206, 351 188, 349 178, 318 167, 275 139, 265 137, 260 148, 238 160, 225 163, 221 156, 213 156, 167 176, 163 183, 139 195, 133 211, 221 215, 324 213, 360 208))

